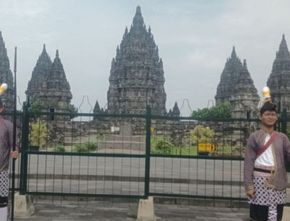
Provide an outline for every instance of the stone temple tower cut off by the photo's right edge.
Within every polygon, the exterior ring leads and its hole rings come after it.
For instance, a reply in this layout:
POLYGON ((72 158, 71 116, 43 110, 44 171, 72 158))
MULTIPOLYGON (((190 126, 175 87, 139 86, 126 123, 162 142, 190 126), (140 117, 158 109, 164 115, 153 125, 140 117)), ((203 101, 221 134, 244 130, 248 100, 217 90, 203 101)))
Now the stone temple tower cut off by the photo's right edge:
POLYGON ((287 47, 285 36, 276 58, 273 62, 272 72, 268 78, 267 85, 270 88, 272 101, 279 107, 279 111, 286 109, 290 112, 290 53, 287 47))

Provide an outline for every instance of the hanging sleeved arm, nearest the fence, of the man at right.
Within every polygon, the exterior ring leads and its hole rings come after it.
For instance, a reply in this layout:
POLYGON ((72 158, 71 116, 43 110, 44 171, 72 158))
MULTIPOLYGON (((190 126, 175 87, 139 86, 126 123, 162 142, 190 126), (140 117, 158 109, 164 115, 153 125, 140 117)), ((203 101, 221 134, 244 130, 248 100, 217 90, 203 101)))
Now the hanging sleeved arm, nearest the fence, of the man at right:
POLYGON ((254 151, 254 145, 256 144, 254 135, 252 134, 247 142, 245 150, 244 160, 244 184, 246 195, 250 198, 255 196, 255 188, 253 183, 253 171, 256 160, 256 152, 254 151))

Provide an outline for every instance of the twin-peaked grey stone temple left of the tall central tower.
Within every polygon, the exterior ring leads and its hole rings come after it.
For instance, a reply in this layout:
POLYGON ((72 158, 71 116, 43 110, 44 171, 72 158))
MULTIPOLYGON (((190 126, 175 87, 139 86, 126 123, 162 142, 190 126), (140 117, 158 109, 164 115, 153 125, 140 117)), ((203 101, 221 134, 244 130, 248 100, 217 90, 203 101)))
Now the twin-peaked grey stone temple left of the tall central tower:
POLYGON ((58 50, 52 62, 44 45, 33 69, 26 95, 32 104, 37 102, 42 111, 71 111, 72 94, 58 50))

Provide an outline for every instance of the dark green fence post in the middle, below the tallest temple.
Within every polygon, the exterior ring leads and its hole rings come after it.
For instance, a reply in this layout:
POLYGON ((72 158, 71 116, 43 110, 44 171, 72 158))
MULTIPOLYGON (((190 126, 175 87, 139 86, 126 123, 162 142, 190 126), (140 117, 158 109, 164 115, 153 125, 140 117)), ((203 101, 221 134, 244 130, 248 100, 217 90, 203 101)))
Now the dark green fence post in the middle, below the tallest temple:
POLYGON ((151 108, 146 107, 146 151, 145 151, 145 188, 144 197, 149 197, 150 184, 150 150, 151 150, 151 108))

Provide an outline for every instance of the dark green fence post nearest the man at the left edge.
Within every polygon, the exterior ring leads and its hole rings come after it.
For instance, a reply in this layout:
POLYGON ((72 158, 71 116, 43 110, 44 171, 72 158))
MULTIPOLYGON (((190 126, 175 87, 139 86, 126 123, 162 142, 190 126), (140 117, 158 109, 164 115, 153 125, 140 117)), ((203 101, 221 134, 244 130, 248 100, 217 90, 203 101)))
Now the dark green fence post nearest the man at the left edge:
POLYGON ((28 103, 23 104, 23 119, 22 119, 22 136, 21 136, 21 168, 20 168, 20 194, 25 194, 27 191, 27 163, 28 163, 28 136, 29 136, 29 114, 28 103))

